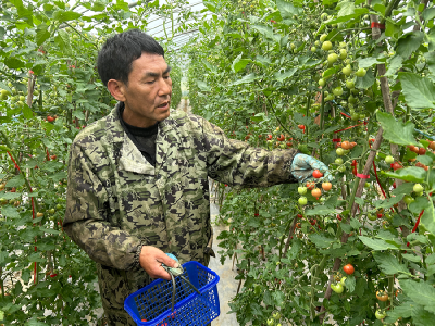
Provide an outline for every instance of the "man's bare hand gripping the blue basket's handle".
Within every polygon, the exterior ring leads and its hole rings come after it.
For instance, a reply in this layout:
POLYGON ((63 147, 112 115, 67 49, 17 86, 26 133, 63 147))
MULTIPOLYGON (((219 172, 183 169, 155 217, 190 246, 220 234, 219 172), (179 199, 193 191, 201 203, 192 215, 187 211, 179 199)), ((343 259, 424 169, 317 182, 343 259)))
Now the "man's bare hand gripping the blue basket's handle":
POLYGON ((171 280, 171 275, 164 271, 162 264, 167 267, 177 268, 179 265, 160 249, 152 246, 144 246, 139 255, 140 266, 152 278, 171 280))

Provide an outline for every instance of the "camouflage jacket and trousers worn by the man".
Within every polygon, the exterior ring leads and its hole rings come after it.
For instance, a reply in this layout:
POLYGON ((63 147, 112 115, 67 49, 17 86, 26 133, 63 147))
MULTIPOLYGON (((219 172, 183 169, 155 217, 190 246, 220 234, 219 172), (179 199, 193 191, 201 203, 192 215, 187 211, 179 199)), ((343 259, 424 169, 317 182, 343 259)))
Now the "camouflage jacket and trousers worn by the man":
POLYGON ((251 148, 200 116, 172 110, 159 124, 154 167, 124 133, 117 106, 71 146, 64 229, 97 263, 109 325, 134 325, 124 299, 152 280, 138 266, 138 248, 208 265, 208 178, 233 187, 295 183, 297 152, 251 148))

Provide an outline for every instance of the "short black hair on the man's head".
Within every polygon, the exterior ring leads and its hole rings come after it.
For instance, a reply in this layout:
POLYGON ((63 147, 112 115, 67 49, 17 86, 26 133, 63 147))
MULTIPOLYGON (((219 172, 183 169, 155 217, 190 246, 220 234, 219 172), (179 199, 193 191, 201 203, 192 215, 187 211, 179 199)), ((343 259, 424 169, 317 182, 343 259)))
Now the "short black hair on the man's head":
POLYGON ((142 52, 164 58, 164 50, 151 36, 140 29, 129 29, 109 38, 98 53, 97 67, 102 83, 108 86, 110 79, 128 85, 132 63, 142 52))

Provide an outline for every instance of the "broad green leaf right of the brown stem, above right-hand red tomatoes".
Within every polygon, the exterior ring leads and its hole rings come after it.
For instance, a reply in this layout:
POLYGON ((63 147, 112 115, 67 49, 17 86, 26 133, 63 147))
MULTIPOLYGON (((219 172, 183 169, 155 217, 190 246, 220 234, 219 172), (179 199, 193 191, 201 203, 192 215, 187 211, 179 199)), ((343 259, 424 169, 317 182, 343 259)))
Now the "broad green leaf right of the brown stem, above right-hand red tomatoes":
POLYGON ((414 125, 410 122, 397 122, 391 114, 378 111, 377 121, 384 129, 384 138, 397 145, 418 145, 413 137, 414 125))

